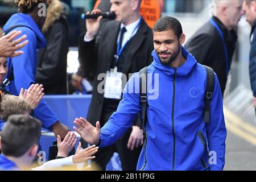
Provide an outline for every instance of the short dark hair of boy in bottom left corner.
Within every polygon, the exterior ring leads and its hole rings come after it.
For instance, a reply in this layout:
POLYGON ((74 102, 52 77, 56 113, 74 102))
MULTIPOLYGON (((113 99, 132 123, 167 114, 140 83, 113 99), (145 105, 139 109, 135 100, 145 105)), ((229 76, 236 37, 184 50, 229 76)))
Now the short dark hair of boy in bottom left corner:
POLYGON ((18 158, 39 144, 42 124, 28 115, 11 115, 1 132, 2 152, 18 158))

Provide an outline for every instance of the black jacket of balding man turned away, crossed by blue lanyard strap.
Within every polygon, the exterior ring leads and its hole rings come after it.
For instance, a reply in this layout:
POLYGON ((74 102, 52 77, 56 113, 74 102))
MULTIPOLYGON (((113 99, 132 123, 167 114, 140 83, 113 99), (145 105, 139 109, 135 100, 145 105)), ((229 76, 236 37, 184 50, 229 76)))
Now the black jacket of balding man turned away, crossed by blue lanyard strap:
MULTIPOLYGON (((228 31, 224 24, 214 16, 213 20, 218 24, 224 35, 230 67, 237 43, 236 31, 228 31)), ((197 62, 213 68, 220 82, 223 95, 228 75, 226 74, 225 51, 217 29, 208 21, 188 40, 185 48, 195 56, 197 62)))

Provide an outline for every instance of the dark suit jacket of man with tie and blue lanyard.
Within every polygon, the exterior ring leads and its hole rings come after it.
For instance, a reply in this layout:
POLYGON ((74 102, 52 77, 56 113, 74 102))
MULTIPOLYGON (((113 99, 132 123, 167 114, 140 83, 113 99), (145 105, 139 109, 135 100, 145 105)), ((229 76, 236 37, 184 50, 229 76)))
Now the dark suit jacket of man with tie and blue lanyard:
MULTIPOLYGON (((102 80, 97 80, 100 73, 110 71, 114 59, 120 23, 109 21, 102 27, 100 43, 94 46, 95 40, 84 42, 84 35, 81 35, 79 44, 80 71, 83 77, 93 78, 92 101, 88 111, 88 121, 95 125, 100 121, 104 93, 98 93, 97 86, 102 80)), ((123 73, 135 73, 152 62, 151 52, 154 49, 152 30, 142 20, 137 33, 131 39, 129 52, 127 52, 123 63, 123 73)), ((104 79, 105 80, 105 79, 104 79)))

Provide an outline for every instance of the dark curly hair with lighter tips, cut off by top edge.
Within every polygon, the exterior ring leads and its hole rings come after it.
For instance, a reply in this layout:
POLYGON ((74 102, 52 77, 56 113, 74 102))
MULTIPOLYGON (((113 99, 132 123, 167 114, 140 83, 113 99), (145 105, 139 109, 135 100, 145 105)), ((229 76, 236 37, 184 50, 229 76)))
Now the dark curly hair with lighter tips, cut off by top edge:
POLYGON ((39 3, 46 3, 47 0, 15 0, 22 13, 31 13, 39 3))

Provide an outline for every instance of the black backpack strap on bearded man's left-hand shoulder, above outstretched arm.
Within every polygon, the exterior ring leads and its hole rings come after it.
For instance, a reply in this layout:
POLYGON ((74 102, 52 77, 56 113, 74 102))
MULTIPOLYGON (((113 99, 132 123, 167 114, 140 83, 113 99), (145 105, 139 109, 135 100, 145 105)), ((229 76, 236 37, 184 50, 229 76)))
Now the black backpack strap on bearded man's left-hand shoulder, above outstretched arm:
POLYGON ((141 115, 141 126, 143 129, 144 125, 146 125, 146 110, 147 110, 147 67, 144 67, 139 71, 139 94, 140 94, 140 103, 142 108, 141 115))

